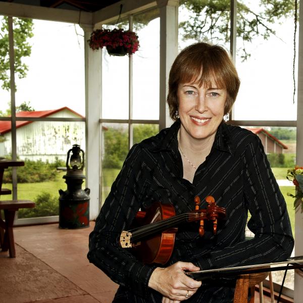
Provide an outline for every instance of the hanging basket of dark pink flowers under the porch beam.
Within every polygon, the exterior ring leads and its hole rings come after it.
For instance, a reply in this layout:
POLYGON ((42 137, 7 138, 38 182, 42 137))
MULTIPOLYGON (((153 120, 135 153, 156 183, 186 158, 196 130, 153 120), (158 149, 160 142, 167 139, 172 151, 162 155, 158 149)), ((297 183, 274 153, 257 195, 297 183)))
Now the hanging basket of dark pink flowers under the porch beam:
POLYGON ((88 40, 93 50, 106 47, 109 55, 125 56, 134 54, 139 47, 138 36, 132 31, 123 29, 96 29, 88 40))

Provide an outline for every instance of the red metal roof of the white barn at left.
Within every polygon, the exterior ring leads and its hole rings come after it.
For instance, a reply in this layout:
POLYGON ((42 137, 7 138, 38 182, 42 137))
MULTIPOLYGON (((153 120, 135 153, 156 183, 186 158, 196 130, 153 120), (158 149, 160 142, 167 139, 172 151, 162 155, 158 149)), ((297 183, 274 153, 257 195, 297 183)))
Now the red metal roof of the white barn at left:
MULTIPOLYGON (((68 110, 75 115, 79 116, 79 118, 84 118, 82 115, 78 114, 77 112, 71 110, 68 107, 63 107, 58 110, 48 110, 48 111, 34 111, 34 112, 18 112, 16 113, 16 117, 31 117, 31 118, 45 118, 50 115, 56 114, 58 112, 68 110)), ((22 127, 26 124, 32 123, 34 121, 16 121, 16 128, 22 127)), ((5 134, 10 132, 12 129, 11 121, 0 121, 0 134, 5 134)))

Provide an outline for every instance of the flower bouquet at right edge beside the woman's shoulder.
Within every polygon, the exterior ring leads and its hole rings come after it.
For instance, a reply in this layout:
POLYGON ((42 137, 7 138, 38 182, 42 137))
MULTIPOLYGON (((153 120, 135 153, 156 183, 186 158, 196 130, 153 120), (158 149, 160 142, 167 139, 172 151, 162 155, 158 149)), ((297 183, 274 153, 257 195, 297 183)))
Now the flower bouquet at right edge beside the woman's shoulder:
POLYGON ((287 192, 287 195, 295 198, 293 206, 295 208, 301 206, 301 212, 303 212, 303 166, 289 169, 286 178, 295 185, 296 189, 296 194, 287 192))

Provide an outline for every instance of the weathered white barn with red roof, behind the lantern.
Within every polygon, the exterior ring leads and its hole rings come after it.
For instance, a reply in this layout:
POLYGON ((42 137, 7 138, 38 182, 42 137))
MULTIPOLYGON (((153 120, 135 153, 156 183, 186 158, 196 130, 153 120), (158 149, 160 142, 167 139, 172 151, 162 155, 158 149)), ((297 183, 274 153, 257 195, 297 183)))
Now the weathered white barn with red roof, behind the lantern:
MULTIPOLYGON (((34 118, 84 118, 68 107, 57 110, 19 112, 17 117, 34 118)), ((85 122, 73 121, 17 121, 17 157, 21 160, 66 160, 73 144, 85 148, 85 122)), ((0 121, 0 156, 12 153, 11 122, 0 121)))

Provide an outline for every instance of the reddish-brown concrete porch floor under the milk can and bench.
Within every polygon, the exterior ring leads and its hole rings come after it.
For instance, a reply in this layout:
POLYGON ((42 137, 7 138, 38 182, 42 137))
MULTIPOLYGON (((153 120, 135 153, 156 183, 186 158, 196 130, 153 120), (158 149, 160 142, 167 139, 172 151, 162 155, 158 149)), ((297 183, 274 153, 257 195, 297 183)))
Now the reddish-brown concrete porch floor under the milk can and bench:
POLYGON ((86 258, 93 227, 15 227, 16 258, 0 252, 0 303, 111 303, 118 285, 86 258))

